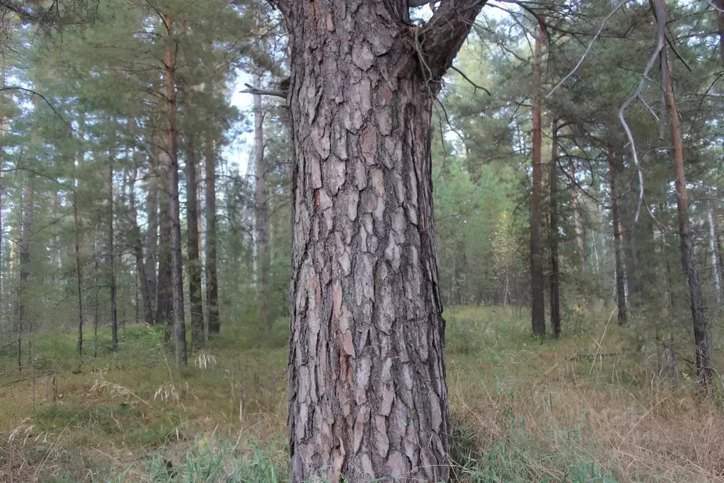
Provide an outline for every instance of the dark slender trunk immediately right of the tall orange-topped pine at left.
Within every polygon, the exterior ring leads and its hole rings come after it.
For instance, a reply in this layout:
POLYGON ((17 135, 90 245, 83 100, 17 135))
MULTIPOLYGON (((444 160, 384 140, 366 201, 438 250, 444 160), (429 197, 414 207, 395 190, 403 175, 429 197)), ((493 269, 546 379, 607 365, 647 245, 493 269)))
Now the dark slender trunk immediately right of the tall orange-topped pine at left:
MULTIPOLYGON (((185 96, 186 112, 190 112, 190 97, 185 96)), ((198 189, 196 183, 195 134, 186 132, 186 224, 188 246, 188 293, 191 311, 191 349, 203 348, 203 306, 201 303, 201 260, 198 241, 198 189)))

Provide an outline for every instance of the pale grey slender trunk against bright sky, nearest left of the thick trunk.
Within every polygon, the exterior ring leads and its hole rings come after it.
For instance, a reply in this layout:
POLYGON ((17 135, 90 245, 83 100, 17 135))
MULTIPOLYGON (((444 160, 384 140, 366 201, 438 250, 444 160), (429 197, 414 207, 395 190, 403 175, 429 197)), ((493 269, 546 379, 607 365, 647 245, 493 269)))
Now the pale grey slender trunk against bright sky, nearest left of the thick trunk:
MULTIPOLYGON (((255 84, 261 88, 259 77, 255 84)), ((264 106, 254 96, 254 159, 256 161, 256 264, 259 282, 259 320, 269 324, 269 256, 266 251, 266 163, 264 162, 264 106)))

